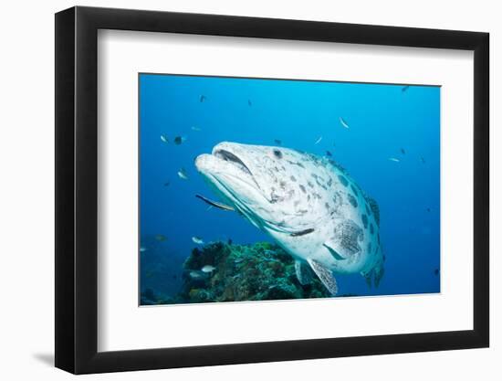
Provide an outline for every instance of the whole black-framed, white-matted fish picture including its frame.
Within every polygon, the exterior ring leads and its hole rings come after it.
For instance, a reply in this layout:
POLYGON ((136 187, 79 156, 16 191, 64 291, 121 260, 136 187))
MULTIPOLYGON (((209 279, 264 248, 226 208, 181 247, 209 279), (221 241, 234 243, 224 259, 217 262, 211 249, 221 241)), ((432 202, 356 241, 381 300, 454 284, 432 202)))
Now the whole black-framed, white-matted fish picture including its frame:
POLYGON ((486 347, 488 34, 56 15, 56 366, 486 347))

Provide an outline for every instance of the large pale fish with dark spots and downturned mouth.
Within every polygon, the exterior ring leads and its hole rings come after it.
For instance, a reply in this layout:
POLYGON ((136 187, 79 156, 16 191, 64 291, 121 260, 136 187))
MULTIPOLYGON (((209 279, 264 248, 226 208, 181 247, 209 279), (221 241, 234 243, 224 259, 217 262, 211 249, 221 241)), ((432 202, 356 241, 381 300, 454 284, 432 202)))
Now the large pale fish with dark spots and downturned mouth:
POLYGON ((332 160, 283 147, 219 143, 195 160, 215 193, 296 259, 301 284, 311 272, 332 295, 334 275, 383 275, 380 212, 332 160))

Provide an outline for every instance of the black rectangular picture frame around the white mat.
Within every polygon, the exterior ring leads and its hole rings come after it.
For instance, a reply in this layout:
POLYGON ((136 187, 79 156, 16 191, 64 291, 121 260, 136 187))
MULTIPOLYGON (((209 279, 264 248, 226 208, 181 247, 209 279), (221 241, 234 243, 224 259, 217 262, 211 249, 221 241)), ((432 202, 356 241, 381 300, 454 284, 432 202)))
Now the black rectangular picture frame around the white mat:
POLYGON ((489 344, 487 33, 72 7, 56 14, 56 366, 75 374, 384 355, 489 344), (98 352, 99 29, 474 51, 474 329, 98 352))

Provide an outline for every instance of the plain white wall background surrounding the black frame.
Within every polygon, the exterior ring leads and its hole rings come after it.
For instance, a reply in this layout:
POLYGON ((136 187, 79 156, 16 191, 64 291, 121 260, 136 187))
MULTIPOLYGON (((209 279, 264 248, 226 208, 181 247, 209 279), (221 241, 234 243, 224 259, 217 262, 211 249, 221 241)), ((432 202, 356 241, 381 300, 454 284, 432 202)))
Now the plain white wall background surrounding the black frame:
MULTIPOLYGON (((67 0, 5 2, 0 22, 0 378, 68 379, 52 367, 54 311, 54 16, 75 5, 67 0)), ((490 349, 413 355, 385 355, 265 365, 232 365, 89 376, 89 379, 289 380, 329 379, 424 380, 486 379, 502 376, 501 319, 502 192, 496 174, 502 153, 495 152, 502 135, 496 89, 501 85, 502 24, 497 2, 344 1, 309 2, 232 0, 84 1, 79 5, 113 6, 268 16, 393 26, 420 26, 487 31, 491 34, 492 147, 492 345, 490 349), (497 144, 498 143, 498 144, 497 144), (497 361, 498 360, 498 361, 497 361)), ((413 69, 413 68, 411 68, 413 69)), ((461 212, 460 212, 461 213, 461 212)), ((204 319, 204 317, 201 317, 204 319)), ((309 322, 306 322, 309 323, 309 322)), ((243 327, 246 329, 246 327, 243 327)))

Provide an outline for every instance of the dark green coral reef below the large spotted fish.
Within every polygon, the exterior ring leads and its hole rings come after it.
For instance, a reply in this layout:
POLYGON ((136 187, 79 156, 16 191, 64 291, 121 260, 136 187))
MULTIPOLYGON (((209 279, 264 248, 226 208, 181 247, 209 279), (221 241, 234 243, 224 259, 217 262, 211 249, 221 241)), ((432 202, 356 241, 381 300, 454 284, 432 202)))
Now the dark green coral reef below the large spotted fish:
MULTIPOLYGON (((155 303, 152 293, 141 296, 155 303)), ((302 286, 295 273, 294 260, 277 245, 215 242, 202 249, 193 249, 183 264, 182 291, 162 303, 321 297, 329 297, 329 292, 320 281, 314 277, 309 285, 302 286)))

